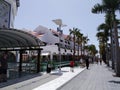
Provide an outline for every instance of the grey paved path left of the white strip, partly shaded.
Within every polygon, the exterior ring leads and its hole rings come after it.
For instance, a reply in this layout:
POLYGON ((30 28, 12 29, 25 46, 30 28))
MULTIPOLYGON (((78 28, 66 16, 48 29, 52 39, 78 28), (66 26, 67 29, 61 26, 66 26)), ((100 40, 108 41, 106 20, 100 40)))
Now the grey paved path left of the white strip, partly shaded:
POLYGON ((1 83, 0 90, 32 90, 33 88, 36 88, 42 84, 60 77, 60 75, 52 73, 44 75, 37 74, 34 77, 30 75, 28 77, 25 76, 14 80, 8 80, 5 83, 1 83))

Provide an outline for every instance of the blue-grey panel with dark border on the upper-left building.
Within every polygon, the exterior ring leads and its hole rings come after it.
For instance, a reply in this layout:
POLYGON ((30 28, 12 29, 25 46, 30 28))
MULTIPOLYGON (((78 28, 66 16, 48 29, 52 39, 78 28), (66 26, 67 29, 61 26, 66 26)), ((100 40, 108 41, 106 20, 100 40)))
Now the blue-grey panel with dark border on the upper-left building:
POLYGON ((10 28, 11 5, 4 0, 0 0, 0 28, 10 28))

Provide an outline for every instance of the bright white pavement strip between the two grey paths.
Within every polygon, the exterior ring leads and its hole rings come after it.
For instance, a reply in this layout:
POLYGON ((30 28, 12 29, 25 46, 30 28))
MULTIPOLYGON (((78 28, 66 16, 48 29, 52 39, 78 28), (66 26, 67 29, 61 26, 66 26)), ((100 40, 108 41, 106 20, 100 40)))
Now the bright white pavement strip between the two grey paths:
POLYGON ((85 68, 76 68, 74 69, 75 72, 73 73, 70 72, 67 68, 67 73, 64 72, 65 70, 63 70, 64 74, 62 76, 39 87, 36 87, 33 90, 57 90, 79 75, 83 70, 85 70, 85 68))

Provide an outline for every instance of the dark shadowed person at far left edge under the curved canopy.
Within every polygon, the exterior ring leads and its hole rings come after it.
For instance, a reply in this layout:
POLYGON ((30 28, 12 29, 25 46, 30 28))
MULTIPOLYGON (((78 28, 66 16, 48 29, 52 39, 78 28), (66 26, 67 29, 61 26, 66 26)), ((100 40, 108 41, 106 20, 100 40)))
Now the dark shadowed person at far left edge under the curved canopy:
POLYGON ((7 53, 3 53, 3 56, 0 60, 0 78, 1 78, 1 82, 6 82, 7 81, 7 68, 8 68, 8 64, 7 64, 7 53))

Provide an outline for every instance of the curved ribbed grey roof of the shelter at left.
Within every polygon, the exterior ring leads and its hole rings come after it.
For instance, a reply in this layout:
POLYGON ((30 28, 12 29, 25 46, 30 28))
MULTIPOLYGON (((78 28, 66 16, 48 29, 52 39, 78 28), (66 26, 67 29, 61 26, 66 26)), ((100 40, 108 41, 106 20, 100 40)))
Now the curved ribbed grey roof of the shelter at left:
POLYGON ((22 30, 0 28, 0 50, 44 45, 37 37, 22 30))

